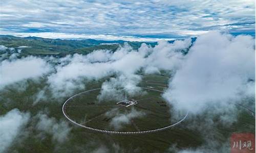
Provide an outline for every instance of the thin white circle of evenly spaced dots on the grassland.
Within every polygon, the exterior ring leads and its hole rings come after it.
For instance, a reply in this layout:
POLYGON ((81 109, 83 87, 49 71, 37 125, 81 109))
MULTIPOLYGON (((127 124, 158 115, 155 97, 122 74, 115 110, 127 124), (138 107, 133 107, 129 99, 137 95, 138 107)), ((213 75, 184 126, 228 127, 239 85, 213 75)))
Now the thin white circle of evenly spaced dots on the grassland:
MULTIPOLYGON (((96 128, 93 128, 93 127, 90 127, 90 126, 85 126, 85 125, 82 125, 82 124, 79 124, 77 122, 75 122, 74 120, 70 119, 68 117, 68 115, 65 113, 65 107, 66 107, 66 104, 68 103, 68 101, 70 99, 72 99, 73 97, 79 95, 79 94, 82 94, 82 93, 85 93, 85 92, 90 92, 90 91, 94 91, 94 90, 99 90, 101 88, 96 88, 96 89, 92 89, 92 90, 87 90, 87 91, 83 91, 83 92, 79 92, 73 96, 71 96, 70 98, 68 98, 68 100, 65 101, 65 103, 63 104, 62 106, 62 112, 64 114, 64 116, 69 120, 71 121, 72 123, 78 125, 78 126, 81 126, 81 127, 84 127, 86 129, 89 129, 89 130, 92 130, 92 131, 96 131, 96 132, 101 132, 101 133, 107 133, 107 134, 121 134, 121 135, 130 135, 130 134, 146 134, 146 133, 153 133, 153 132, 158 132, 158 131, 163 131, 163 130, 166 130, 166 129, 169 129, 170 127, 173 127, 173 126, 176 126, 177 124, 179 124, 180 122, 182 122, 188 115, 188 112, 186 113, 186 115, 181 119, 179 120, 178 122, 176 123, 173 123, 173 124, 170 124, 168 126, 164 126, 164 127, 161 127, 161 128, 158 128, 158 129, 154 129, 154 130, 146 130, 146 131, 132 131, 132 132, 124 132, 124 131, 108 131, 108 130, 101 130, 101 129, 96 129, 96 128)), ((156 89, 151 89, 151 88, 143 88, 142 89, 147 89, 147 90, 154 90, 154 91, 158 91, 158 92, 162 92, 161 90, 156 90, 156 89)))

